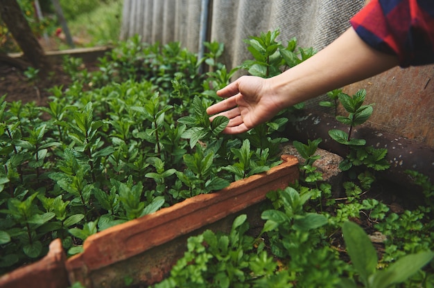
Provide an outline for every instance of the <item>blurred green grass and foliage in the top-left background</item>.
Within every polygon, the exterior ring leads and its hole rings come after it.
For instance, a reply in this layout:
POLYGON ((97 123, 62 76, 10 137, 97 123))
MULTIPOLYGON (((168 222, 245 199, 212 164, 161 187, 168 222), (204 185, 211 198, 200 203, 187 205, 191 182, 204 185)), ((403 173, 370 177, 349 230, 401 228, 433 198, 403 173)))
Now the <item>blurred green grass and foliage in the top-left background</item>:
MULTIPOLYGON (((64 39, 52 0, 17 2, 44 50, 71 48, 64 39), (37 12, 38 4, 42 17, 37 12)), ((60 6, 75 47, 105 46, 118 41, 123 0, 60 0, 60 6)), ((19 47, 1 19, 0 52, 19 52, 19 47)))

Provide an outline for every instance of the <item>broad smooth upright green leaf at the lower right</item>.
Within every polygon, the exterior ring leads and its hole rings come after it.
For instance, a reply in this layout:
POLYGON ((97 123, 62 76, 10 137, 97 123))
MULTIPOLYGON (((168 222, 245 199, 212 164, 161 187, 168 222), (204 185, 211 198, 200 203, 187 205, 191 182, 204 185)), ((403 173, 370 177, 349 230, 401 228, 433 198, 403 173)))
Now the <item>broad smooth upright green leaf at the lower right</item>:
POLYGON ((374 246, 365 231, 354 222, 345 222, 342 225, 342 233, 349 258, 363 282, 367 284, 378 262, 374 246))

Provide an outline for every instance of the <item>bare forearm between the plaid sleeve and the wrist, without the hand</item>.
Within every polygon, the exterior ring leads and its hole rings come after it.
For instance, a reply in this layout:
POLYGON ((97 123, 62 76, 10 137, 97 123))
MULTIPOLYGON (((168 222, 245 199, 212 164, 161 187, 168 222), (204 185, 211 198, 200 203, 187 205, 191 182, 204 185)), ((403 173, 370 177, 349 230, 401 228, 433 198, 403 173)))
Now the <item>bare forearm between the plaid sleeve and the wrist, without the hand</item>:
POLYGON ((322 51, 270 78, 270 91, 289 107, 398 65, 398 58, 374 50, 349 28, 322 51))

